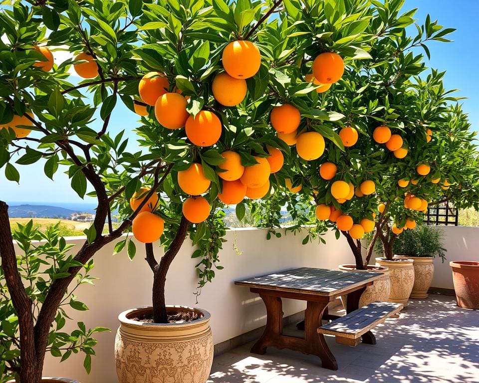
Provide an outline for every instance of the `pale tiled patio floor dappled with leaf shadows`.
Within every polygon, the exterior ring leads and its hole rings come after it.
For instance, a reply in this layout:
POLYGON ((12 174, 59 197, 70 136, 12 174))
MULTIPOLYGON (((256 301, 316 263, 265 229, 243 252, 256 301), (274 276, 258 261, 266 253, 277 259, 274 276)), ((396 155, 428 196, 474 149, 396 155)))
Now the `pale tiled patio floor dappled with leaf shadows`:
POLYGON ((216 357, 208 383, 479 383, 479 310, 437 294, 409 302, 399 319, 376 328, 375 346, 338 345, 328 336, 338 371, 289 350, 250 354, 249 343, 216 357))

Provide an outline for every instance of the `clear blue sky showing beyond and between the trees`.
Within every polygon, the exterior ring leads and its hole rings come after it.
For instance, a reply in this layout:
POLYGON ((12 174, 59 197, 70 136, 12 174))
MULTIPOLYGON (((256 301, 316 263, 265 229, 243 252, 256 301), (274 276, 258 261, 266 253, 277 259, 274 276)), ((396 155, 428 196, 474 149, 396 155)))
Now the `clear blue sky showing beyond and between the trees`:
MULTIPOLYGON (((457 28, 451 35, 454 42, 430 42, 431 61, 428 66, 441 71, 447 70, 445 86, 448 89, 460 89, 459 95, 468 97, 463 100, 464 110, 470 114, 473 130, 479 131, 479 61, 478 41, 479 1, 477 0, 406 0, 404 10, 419 8, 416 13, 418 23, 423 23, 429 13, 432 20, 439 20, 445 27, 457 28)), ((415 32, 415 28, 411 33, 415 32)), ((60 60, 61 61, 61 60, 60 60)), ((72 79, 73 81, 73 79, 72 79)), ((118 102, 110 121, 113 134, 125 130, 134 140, 133 130, 138 126, 138 116, 118 102)), ((98 127, 101 120, 96 122, 98 127)), ((20 185, 7 182, 0 176, 0 199, 7 202, 81 202, 70 188, 68 177, 57 172, 54 182, 43 174, 43 164, 18 166, 20 185)), ((3 170, 2 170, 3 171, 3 170)), ((85 198, 85 202, 94 202, 85 198)))

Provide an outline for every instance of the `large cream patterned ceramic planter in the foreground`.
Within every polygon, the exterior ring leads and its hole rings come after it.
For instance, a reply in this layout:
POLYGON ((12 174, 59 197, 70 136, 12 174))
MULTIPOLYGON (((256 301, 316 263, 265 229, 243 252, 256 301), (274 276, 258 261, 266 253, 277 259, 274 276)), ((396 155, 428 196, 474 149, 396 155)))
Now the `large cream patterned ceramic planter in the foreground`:
POLYGON ((130 318, 151 313, 151 307, 124 311, 115 340, 119 383, 205 383, 213 363, 210 313, 191 307, 168 306, 171 311, 196 311, 202 316, 185 323, 143 323, 130 318))

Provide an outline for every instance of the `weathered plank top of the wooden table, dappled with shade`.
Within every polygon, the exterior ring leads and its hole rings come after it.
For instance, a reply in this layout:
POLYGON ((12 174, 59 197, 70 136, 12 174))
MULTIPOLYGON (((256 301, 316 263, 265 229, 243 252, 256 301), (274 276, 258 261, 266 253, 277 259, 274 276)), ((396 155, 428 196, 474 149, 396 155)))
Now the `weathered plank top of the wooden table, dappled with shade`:
POLYGON ((365 273, 300 267, 236 281, 235 284, 267 290, 331 296, 357 286, 364 286, 382 276, 383 273, 379 272, 365 273))

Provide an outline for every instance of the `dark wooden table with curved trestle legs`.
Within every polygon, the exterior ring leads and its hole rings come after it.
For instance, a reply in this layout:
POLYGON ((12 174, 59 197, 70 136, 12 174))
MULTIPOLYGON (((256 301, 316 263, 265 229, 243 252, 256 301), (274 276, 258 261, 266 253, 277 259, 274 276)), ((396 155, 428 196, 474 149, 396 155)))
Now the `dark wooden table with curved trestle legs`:
MULTIPOLYGON (((317 332, 321 320, 326 317, 337 318, 328 315, 328 304, 341 295, 347 295, 346 312, 357 310, 359 298, 366 286, 373 284, 382 276, 382 273, 301 267, 235 282, 236 285, 248 286, 252 293, 259 294, 266 306, 266 329, 251 348, 251 352, 262 355, 269 346, 287 348, 316 355, 321 359, 323 368, 337 370, 338 364, 323 334, 317 332), (304 313, 304 338, 283 335, 284 313, 281 298, 307 302, 304 313)), ((370 331, 362 336, 362 341, 376 344, 376 339, 370 331)))

